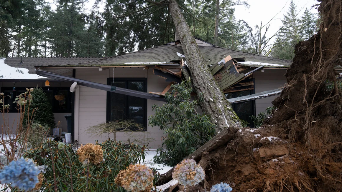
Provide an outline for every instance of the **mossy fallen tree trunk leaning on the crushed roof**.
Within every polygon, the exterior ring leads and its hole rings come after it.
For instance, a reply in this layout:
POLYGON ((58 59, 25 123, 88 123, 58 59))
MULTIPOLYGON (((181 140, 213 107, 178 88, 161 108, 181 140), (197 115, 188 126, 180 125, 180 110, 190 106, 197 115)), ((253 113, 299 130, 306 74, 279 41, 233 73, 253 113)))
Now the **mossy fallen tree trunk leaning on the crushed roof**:
POLYGON ((241 124, 238 122, 239 118, 212 76, 175 0, 171 0, 169 9, 182 44, 187 65, 190 69, 195 91, 203 93, 204 102, 200 103, 202 109, 210 116, 211 121, 215 123, 217 132, 221 132, 229 127, 241 127, 241 124))

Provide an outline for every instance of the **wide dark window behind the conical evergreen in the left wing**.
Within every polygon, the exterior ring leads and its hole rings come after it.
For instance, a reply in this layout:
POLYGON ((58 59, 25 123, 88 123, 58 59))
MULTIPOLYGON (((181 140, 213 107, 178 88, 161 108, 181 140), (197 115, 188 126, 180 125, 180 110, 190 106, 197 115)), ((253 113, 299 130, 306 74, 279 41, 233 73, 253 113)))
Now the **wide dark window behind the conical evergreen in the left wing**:
MULTIPOLYGON (((53 113, 71 113, 71 92, 68 91, 69 87, 43 87, 43 91, 49 98, 49 102, 52 106, 52 112, 53 113), (64 95, 64 99, 61 101, 58 101, 55 98, 55 95, 64 95)), ((4 95, 9 95, 10 97, 5 97, 5 104, 10 105, 10 113, 16 113, 16 104, 13 102, 15 101, 16 96, 18 96, 21 93, 26 92, 25 87, 15 87, 15 90, 13 90, 13 87, 2 87, 1 91, 4 95)))

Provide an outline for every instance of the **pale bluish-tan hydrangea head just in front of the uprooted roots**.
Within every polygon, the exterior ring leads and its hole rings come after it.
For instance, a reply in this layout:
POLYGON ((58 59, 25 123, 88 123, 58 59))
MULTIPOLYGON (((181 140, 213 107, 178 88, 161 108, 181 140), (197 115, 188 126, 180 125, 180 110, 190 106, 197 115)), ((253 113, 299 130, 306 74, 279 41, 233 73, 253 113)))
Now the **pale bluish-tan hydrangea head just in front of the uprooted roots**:
POLYGON ((195 160, 185 159, 174 167, 172 178, 183 186, 195 186, 205 175, 203 168, 197 165, 195 160))

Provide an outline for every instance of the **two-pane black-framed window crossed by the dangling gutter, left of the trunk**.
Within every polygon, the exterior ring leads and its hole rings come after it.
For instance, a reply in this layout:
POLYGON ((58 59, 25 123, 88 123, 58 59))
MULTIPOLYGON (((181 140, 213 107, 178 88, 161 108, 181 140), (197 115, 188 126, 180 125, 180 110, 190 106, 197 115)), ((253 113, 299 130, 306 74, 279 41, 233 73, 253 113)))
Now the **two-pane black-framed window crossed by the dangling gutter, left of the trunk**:
MULTIPOLYGON (((147 91, 146 78, 108 78, 111 86, 147 91)), ((147 100, 139 97, 107 92, 107 120, 131 119, 147 128, 147 100)))

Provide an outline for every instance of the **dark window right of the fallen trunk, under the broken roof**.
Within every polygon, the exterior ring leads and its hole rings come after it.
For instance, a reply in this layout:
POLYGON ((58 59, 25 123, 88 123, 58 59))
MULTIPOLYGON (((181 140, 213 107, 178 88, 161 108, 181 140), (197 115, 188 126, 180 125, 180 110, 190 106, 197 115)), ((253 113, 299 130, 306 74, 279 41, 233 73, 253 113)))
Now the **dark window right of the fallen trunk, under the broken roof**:
MULTIPOLYGON (((238 91, 233 93, 226 93, 227 99, 232 99, 236 97, 242 97, 253 94, 253 90, 247 90, 247 91, 238 91)), ((254 127, 254 123, 251 120, 251 116, 255 115, 255 101, 246 101, 241 103, 233 103, 233 110, 235 111, 236 115, 242 119, 248 122, 249 127, 254 127)))

